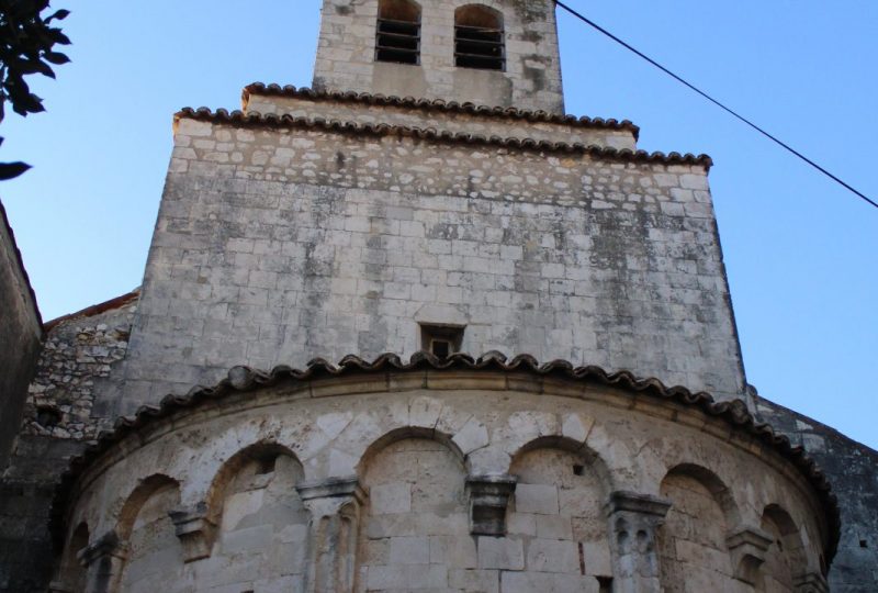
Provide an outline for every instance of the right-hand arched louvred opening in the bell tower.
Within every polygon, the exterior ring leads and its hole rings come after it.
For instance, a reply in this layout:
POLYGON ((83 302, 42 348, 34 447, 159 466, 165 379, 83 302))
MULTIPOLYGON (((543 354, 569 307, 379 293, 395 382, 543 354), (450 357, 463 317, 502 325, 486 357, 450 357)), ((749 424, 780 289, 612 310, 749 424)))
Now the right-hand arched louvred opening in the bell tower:
POLYGON ((454 64, 460 68, 482 70, 506 68, 503 14, 499 11, 469 4, 454 12, 454 64))

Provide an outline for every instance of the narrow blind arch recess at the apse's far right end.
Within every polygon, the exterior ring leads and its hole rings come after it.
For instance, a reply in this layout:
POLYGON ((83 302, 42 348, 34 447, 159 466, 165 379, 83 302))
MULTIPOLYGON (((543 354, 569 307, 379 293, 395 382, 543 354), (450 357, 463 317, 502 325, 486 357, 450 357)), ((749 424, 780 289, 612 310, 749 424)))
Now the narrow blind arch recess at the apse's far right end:
POLYGON ((804 574, 808 559, 799 527, 779 504, 769 504, 762 515, 761 529, 770 537, 756 591, 792 593, 796 578, 804 574))

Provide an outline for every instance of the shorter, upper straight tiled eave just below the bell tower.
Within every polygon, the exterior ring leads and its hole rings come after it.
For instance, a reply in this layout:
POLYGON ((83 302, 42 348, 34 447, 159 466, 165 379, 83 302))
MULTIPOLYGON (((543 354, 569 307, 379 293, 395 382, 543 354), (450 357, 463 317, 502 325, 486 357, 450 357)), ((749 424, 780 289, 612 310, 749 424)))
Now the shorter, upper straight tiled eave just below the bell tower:
POLYGON ((396 97, 385 94, 372 94, 369 92, 354 91, 327 91, 315 90, 307 87, 296 88, 292 85, 266 85, 254 82, 244 87, 241 98, 246 104, 251 94, 266 97, 291 97, 305 99, 308 101, 336 101, 344 103, 368 103, 370 105, 398 107, 406 109, 419 109, 424 111, 444 111, 449 113, 466 113, 469 115, 480 115, 485 118, 502 118, 506 120, 525 120, 528 122, 544 122, 554 124, 566 124, 577 127, 594 127, 604 130, 627 130, 631 132, 634 139, 640 137, 640 127, 628 120, 605 120, 603 118, 577 118, 575 115, 558 115, 548 111, 533 111, 518 108, 503 108, 477 105, 475 103, 459 103, 457 101, 443 101, 442 99, 417 99, 415 97, 396 97))

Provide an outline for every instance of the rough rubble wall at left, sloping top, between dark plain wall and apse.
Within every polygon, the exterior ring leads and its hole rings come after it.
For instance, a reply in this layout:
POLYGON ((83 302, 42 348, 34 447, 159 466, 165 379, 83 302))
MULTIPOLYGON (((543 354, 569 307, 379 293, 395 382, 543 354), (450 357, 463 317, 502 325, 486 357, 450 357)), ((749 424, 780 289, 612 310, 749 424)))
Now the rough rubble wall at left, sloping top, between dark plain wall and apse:
POLYGON ((70 456, 115 421, 119 361, 125 356, 136 301, 91 316, 63 321, 47 332, 35 378, 11 434, 18 433, 0 478, 0 591, 46 591, 53 544, 48 515, 70 456))

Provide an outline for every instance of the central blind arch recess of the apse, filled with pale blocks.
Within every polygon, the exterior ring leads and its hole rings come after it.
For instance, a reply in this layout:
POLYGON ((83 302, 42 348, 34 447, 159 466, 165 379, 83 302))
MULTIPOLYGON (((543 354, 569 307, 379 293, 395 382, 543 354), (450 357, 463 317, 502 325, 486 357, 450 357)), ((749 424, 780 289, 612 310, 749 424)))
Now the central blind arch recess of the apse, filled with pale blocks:
POLYGON ((354 591, 446 588, 450 570, 472 568, 466 466, 448 435, 392 430, 367 448, 358 475, 368 497, 354 591))

